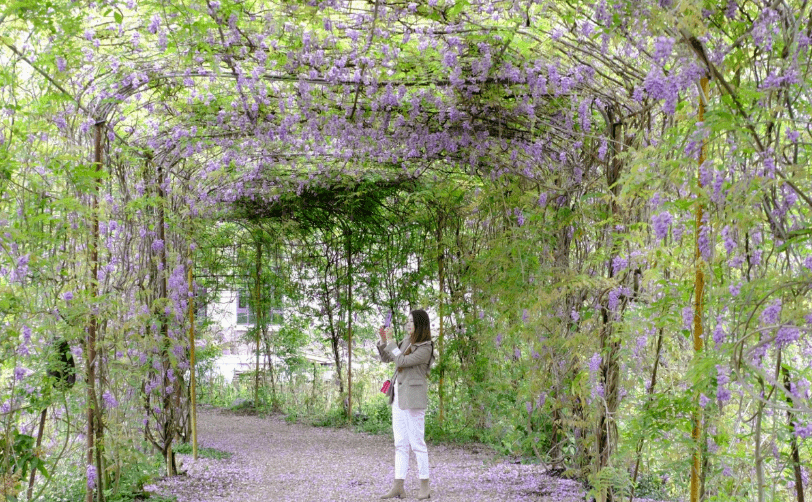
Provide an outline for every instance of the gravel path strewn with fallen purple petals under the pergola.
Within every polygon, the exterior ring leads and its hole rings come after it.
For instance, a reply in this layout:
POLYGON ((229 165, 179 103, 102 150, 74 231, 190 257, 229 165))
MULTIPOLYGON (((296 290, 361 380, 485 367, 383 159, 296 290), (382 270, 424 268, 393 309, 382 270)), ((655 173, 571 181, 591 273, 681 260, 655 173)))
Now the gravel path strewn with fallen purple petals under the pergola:
MULTIPOLYGON (((392 483, 392 435, 289 424, 201 409, 200 447, 232 452, 227 460, 179 455, 187 474, 150 490, 178 502, 373 501, 392 483)), ((541 468, 499 459, 485 448, 429 444, 431 500, 583 500, 580 486, 540 473, 541 468)), ((411 455, 407 499, 417 498, 417 463, 411 455)))

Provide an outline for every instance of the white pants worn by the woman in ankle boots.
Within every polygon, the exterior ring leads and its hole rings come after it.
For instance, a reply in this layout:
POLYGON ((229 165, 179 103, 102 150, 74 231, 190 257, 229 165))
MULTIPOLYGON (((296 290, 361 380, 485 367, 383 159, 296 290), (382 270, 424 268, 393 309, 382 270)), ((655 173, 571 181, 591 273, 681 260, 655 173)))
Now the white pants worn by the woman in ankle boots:
POLYGON ((395 479, 406 479, 409 471, 409 447, 417 457, 420 479, 429 479, 429 452, 424 437, 426 410, 401 410, 398 406, 398 385, 392 403, 392 431, 395 433, 395 479))

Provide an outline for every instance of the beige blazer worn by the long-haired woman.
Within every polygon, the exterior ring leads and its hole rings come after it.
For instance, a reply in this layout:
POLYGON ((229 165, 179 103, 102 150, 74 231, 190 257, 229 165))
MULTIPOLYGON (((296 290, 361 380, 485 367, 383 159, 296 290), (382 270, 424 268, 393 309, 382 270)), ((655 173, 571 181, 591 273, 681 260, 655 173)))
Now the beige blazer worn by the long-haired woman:
MULTIPOLYGON (((403 353, 409 346, 409 339, 384 345, 379 342, 378 353, 381 361, 395 363, 395 379, 392 385, 398 386, 398 406, 401 410, 426 409, 428 407, 428 380, 426 373, 429 370, 434 346, 431 342, 417 343, 408 356, 403 353)), ((389 404, 392 404, 391 401, 389 404)))

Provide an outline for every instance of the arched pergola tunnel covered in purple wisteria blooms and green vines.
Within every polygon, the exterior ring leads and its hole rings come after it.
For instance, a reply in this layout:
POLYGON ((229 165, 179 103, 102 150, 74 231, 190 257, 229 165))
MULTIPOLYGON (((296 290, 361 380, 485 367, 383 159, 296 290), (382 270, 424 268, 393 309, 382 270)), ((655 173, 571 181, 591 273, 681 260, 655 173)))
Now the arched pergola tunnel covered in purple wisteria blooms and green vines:
MULTIPOLYGON (((143 421, 174 474, 207 232, 335 234, 351 278, 367 242, 414 216, 436 237, 440 421, 445 379, 469 382, 466 357, 481 357, 521 375, 494 379, 526 403, 525 439, 549 443, 536 454, 601 501, 633 495, 652 430, 692 502, 747 441, 759 500, 766 478, 803 500, 808 16, 798 1, 8 3, 6 431, 40 409, 18 368, 46 374, 63 333, 82 368, 87 501, 109 486, 108 436, 125 434, 105 417, 127 415, 124 395, 137 413, 120 423, 143 421), (676 368, 657 387, 663 354, 676 368)), ((339 289, 351 417, 357 312, 353 283, 339 289)), ((0 458, 10 476, 11 450, 0 458)))

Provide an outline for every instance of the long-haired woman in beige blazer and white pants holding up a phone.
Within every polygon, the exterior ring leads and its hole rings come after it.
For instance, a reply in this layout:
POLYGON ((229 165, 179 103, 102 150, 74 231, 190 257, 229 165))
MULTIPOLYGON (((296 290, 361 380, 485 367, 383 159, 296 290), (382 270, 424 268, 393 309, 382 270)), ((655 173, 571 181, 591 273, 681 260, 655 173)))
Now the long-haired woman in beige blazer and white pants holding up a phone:
POLYGON ((428 406, 429 368, 434 361, 434 343, 431 341, 429 315, 423 310, 413 310, 406 321, 409 335, 398 345, 391 328, 381 328, 378 334, 378 352, 385 363, 395 363, 392 378, 394 394, 392 405, 392 431, 395 435, 395 485, 382 499, 400 498, 406 495, 403 481, 409 470, 409 448, 417 457, 420 476, 418 500, 430 498, 429 454, 426 449, 425 424, 428 406))

